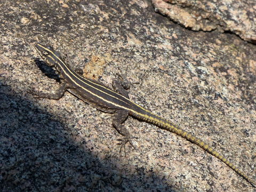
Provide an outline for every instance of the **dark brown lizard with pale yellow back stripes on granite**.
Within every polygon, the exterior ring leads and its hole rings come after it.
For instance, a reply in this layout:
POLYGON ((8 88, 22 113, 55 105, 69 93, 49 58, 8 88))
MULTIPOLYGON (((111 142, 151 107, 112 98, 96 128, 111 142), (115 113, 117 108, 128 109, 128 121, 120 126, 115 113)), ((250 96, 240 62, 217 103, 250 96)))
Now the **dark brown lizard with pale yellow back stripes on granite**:
POLYGON ((66 91, 69 91, 76 95, 79 99, 89 103, 89 105, 92 105, 98 110, 105 113, 114 114, 113 126, 118 133, 123 135, 121 144, 124 147, 124 150, 127 142, 132 145, 132 142, 130 141, 130 132, 123 125, 128 116, 154 124, 164 130, 170 131, 181 136, 182 138, 187 139, 191 143, 194 143, 207 151, 207 153, 217 157, 243 179, 249 182, 252 187, 256 188, 253 180, 251 180, 244 172, 239 170, 225 156, 221 155, 217 150, 207 145, 203 140, 198 139, 189 132, 180 129, 179 126, 171 123, 167 119, 154 115, 147 109, 130 100, 126 91, 126 89, 129 88, 127 83, 116 79, 113 81, 113 91, 98 81, 84 77, 81 74, 81 70, 78 71, 70 67, 69 63, 67 63, 61 54, 55 51, 52 46, 44 46, 36 43, 35 47, 37 52, 46 62, 46 65, 54 67, 60 78, 64 81, 61 81, 60 87, 55 93, 34 92, 34 95, 37 95, 39 98, 59 100, 66 91))

